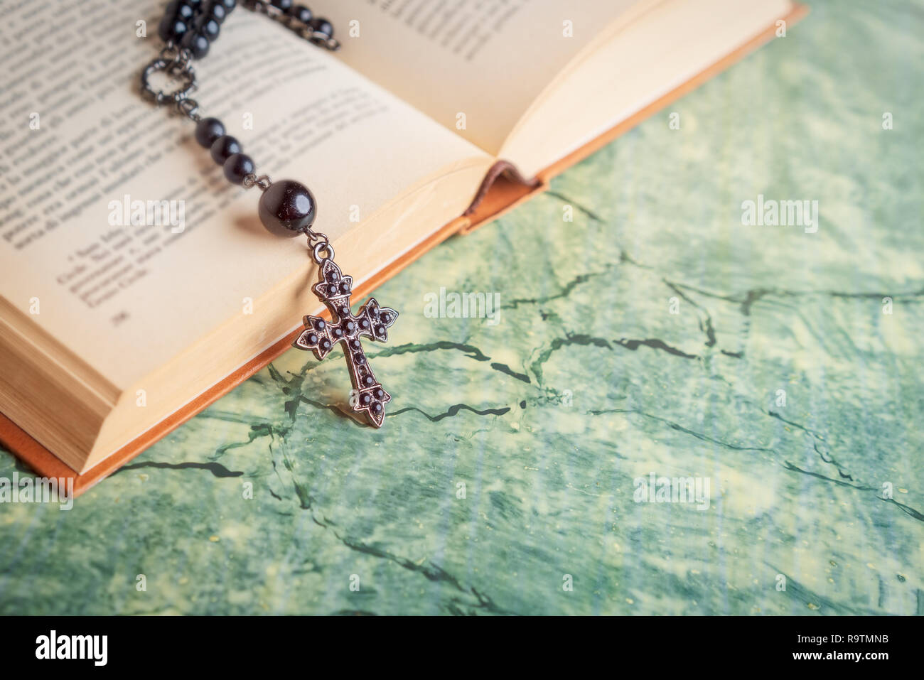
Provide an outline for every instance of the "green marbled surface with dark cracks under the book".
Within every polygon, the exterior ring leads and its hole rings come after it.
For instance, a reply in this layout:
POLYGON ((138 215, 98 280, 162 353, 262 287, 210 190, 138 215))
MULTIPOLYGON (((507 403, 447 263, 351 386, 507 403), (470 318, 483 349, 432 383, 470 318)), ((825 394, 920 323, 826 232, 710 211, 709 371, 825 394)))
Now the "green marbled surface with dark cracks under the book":
POLYGON ((69 512, 0 506, 0 613, 924 613, 924 7, 810 6, 376 291, 383 430, 292 349, 69 512))

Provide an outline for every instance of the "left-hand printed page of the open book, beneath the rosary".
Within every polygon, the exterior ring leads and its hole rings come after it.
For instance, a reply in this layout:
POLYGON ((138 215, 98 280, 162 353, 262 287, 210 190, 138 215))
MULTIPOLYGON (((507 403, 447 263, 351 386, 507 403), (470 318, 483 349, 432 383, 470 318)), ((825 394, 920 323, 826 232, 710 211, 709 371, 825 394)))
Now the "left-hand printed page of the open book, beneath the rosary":
MULTIPOLYGON (((228 183, 192 122, 140 98, 164 5, 0 5, 0 301, 117 387, 280 279, 310 284, 314 266, 303 238, 262 227, 260 190, 228 183)), ((334 242, 428 177, 490 163, 242 6, 195 68, 202 115, 225 122, 258 175, 311 188, 314 228, 334 242)), ((291 310, 293 327, 305 311, 291 310)))

